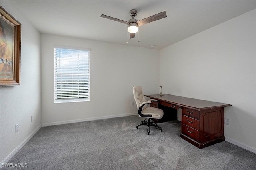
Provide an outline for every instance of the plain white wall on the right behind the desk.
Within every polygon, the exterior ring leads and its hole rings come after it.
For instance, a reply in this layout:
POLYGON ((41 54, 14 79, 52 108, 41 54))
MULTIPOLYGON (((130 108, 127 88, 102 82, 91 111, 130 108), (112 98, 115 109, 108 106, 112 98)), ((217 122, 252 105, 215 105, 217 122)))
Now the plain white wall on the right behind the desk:
POLYGON ((163 93, 232 104, 224 135, 256 152, 256 10, 161 49, 160 84, 163 93))

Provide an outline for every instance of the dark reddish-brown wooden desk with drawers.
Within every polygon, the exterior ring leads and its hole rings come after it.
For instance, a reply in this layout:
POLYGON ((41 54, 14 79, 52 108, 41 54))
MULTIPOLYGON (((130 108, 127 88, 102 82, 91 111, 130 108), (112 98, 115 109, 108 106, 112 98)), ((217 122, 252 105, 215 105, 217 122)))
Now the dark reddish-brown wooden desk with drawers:
POLYGON ((150 107, 158 107, 158 104, 160 104, 174 109, 182 109, 180 137, 196 147, 201 149, 225 141, 224 107, 231 106, 230 104, 170 94, 144 96, 158 100, 152 102, 150 107))

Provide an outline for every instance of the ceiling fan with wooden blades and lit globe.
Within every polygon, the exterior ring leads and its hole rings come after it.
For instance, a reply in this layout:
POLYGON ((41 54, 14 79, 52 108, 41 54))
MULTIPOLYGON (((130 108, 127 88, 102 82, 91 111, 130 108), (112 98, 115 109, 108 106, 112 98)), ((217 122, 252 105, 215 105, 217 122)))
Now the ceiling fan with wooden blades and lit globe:
POLYGON ((148 18, 144 18, 142 20, 136 20, 134 17, 137 16, 137 10, 130 10, 130 16, 132 17, 128 22, 127 21, 123 21, 123 20, 119 20, 117 18, 113 18, 110 16, 106 16, 104 14, 101 14, 101 17, 103 18, 107 18, 110 20, 114 20, 114 21, 118 21, 120 23, 124 23, 128 25, 128 32, 130 33, 130 38, 134 38, 135 37, 135 33, 138 32, 138 27, 145 25, 146 23, 150 23, 156 20, 160 20, 162 18, 167 17, 166 12, 160 12, 158 14, 155 14, 153 16, 150 16, 148 18))

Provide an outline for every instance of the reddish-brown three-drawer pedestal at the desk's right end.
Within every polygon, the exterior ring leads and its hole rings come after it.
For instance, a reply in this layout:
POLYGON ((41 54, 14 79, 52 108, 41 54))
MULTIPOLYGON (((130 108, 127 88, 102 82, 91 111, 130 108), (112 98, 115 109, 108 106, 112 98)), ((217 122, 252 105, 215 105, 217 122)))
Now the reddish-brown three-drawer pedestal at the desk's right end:
POLYGON ((225 141, 224 107, 197 111, 182 108, 180 137, 198 148, 225 141))

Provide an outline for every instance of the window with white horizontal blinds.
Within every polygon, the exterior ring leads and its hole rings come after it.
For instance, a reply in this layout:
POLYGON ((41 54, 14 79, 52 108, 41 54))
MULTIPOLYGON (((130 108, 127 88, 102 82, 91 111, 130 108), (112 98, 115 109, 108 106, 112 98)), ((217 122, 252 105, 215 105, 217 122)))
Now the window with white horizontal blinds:
POLYGON ((89 50, 54 47, 54 102, 90 101, 89 50))

